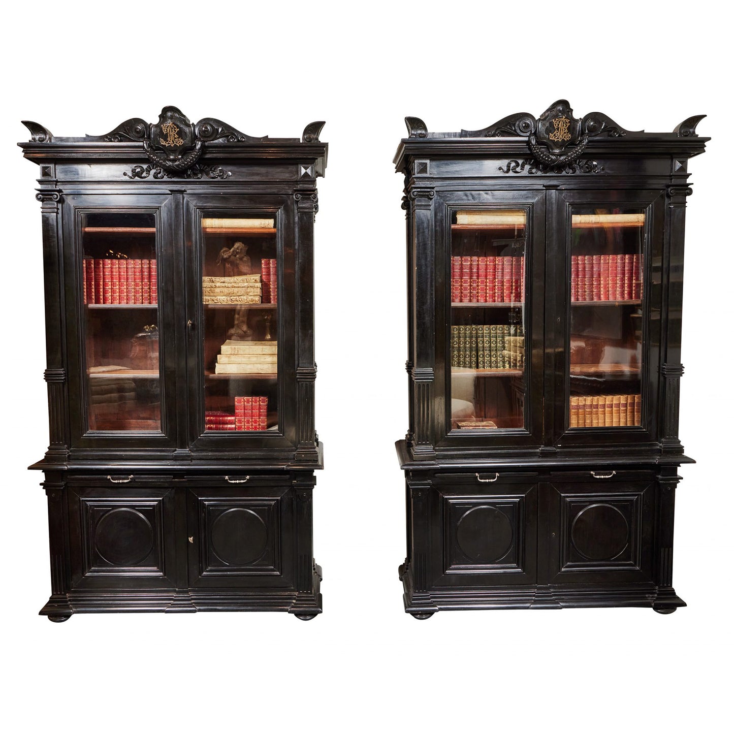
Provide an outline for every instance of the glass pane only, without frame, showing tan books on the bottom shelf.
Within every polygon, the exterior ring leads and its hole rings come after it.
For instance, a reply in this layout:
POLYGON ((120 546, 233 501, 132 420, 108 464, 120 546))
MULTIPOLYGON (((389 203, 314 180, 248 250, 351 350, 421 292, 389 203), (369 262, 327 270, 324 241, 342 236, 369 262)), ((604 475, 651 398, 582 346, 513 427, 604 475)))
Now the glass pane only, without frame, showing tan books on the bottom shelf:
POLYGON ((642 208, 571 216, 570 427, 642 423, 642 208))

